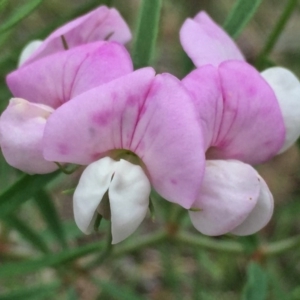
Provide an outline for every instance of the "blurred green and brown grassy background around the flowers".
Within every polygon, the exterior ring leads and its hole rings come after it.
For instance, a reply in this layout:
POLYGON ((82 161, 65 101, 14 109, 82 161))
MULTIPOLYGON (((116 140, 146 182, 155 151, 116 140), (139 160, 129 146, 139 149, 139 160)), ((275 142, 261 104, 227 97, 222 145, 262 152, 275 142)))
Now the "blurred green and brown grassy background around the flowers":
MULTIPOLYGON (((258 63, 288 2, 263 0, 238 37, 250 63, 258 63)), ((234 3, 163 0, 152 66, 158 73, 185 76, 192 64, 179 43, 183 21, 206 10, 223 24, 234 3)), ((101 4, 116 7, 133 34, 136 32, 140 0, 0 1, 1 111, 11 97, 5 76, 16 68, 24 45, 45 38, 58 26, 101 4), (28 16, 14 24, 12 16, 20 18, 26 9, 28 16)), ((299 20, 296 3, 275 47, 260 66, 281 65, 300 77, 299 20)), ((132 43, 128 45, 131 48, 132 43)), ((157 199, 155 222, 148 216, 128 241, 108 254, 108 224, 101 224, 100 232, 91 236, 84 236, 74 224, 72 194, 66 191, 76 186, 80 170, 69 176, 22 177, 1 157, 0 201, 9 201, 2 206, 0 202, 0 299, 300 299, 299 148, 292 147, 258 169, 275 197, 272 221, 258 234, 201 239, 187 213, 181 213, 181 228, 199 236, 198 246, 159 236, 147 240, 149 234, 165 228, 165 216, 172 210, 157 199), (20 178, 16 189, 9 190, 20 178), (136 241, 139 247, 134 246, 136 241), (270 243, 277 250, 264 255, 264 247, 270 243), (226 245, 231 248, 226 250, 226 245)), ((176 218, 171 221, 166 228, 170 236, 176 218)))

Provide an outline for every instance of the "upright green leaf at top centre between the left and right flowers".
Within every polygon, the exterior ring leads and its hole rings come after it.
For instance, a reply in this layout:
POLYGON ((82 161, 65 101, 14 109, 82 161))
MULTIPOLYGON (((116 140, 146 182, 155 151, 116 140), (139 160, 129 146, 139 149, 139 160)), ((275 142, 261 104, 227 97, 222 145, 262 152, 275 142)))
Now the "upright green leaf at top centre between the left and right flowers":
POLYGON ((161 5, 161 0, 142 0, 133 46, 133 63, 136 69, 149 66, 151 63, 157 39, 161 5))

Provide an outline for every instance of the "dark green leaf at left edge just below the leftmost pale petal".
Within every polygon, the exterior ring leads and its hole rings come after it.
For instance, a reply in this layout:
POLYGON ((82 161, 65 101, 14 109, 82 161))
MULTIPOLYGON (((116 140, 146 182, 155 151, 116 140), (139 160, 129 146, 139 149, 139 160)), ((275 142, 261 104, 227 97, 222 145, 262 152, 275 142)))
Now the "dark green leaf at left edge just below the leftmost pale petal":
POLYGON ((60 171, 46 175, 23 175, 0 194, 0 218, 10 214, 19 205, 32 198, 59 173, 60 171))

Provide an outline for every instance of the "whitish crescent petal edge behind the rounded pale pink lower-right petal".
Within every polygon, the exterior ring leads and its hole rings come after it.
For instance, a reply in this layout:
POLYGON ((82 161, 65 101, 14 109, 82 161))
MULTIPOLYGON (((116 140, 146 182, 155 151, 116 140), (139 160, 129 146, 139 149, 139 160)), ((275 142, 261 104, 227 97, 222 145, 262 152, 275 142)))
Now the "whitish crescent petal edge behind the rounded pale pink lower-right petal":
POLYGON ((274 200, 266 182, 257 174, 260 183, 260 193, 257 203, 247 219, 234 228, 231 233, 236 235, 253 234, 265 227, 273 214, 274 200))

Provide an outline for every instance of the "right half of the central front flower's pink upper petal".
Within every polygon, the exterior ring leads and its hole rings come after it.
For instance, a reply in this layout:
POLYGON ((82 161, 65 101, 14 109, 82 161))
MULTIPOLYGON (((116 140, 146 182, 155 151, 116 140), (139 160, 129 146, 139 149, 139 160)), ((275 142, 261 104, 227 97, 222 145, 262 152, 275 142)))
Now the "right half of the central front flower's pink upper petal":
POLYGON ((198 116, 180 81, 156 76, 132 141, 152 185, 164 198, 189 208, 198 196, 205 166, 198 116))

